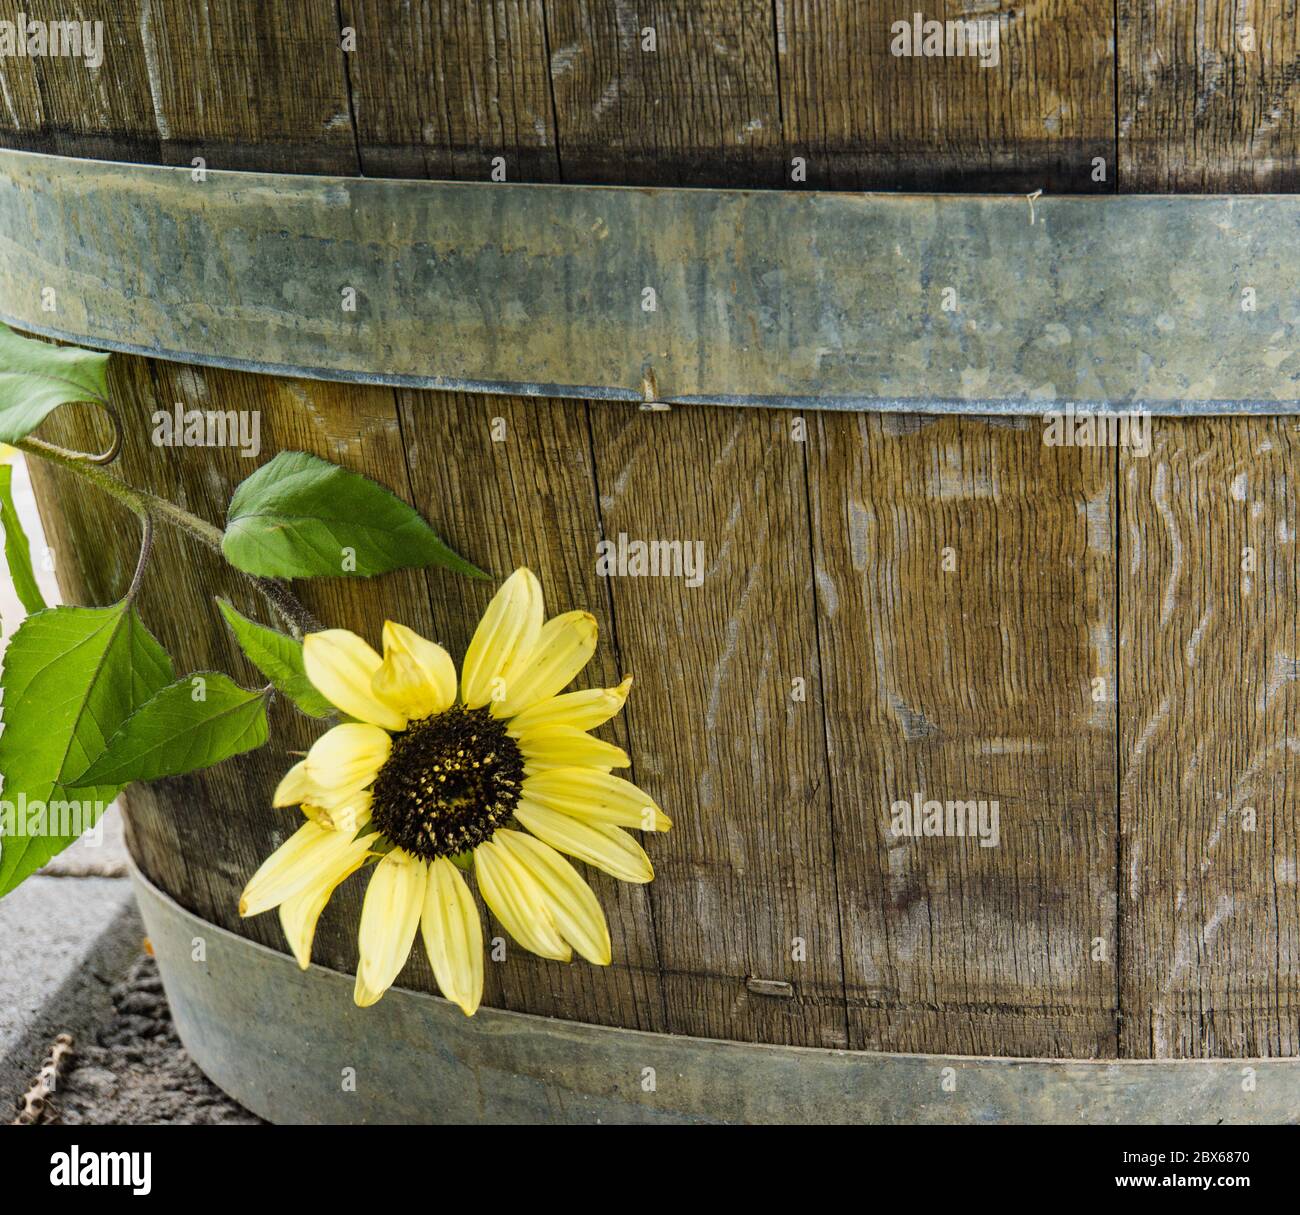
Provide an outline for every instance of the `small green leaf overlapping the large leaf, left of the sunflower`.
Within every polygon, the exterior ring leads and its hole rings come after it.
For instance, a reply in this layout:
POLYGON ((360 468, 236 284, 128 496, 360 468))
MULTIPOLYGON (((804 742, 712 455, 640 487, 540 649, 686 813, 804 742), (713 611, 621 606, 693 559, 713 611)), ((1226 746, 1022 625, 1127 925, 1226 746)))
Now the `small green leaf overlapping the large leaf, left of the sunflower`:
POLYGON ((129 785, 182 776, 252 751, 266 734, 265 693, 246 691, 217 671, 202 671, 146 700, 78 781, 129 785))

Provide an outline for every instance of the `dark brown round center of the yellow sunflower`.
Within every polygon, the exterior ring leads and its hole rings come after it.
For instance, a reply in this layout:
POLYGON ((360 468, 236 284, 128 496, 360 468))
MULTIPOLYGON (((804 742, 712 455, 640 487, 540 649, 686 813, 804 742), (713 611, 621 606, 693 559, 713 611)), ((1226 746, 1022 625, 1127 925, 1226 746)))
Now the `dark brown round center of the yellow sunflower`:
POLYGON ((486 708, 458 704, 393 735, 374 778, 372 821, 424 860, 490 839, 519 802, 524 756, 486 708))

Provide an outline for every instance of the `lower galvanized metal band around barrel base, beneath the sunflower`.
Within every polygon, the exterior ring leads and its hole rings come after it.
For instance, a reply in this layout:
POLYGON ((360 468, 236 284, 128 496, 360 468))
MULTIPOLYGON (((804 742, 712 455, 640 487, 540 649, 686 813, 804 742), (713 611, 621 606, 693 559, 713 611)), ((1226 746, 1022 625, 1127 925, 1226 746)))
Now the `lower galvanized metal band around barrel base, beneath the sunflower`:
POLYGON ((403 989, 358 1008, 351 976, 300 971, 134 878, 186 1050, 272 1121, 1176 1124, 1292 1123, 1300 1111, 1300 1059, 814 1050, 495 1008, 469 1019, 403 989))

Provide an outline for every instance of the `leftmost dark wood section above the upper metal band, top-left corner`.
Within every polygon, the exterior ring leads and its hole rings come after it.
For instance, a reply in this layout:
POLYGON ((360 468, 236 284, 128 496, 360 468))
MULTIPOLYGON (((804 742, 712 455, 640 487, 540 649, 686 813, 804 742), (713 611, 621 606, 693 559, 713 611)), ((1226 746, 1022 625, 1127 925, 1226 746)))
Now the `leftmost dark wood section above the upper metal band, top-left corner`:
POLYGON ((31 0, 31 19, 100 21, 104 62, 0 60, 10 147, 104 160, 352 173, 355 140, 333 0, 31 0))

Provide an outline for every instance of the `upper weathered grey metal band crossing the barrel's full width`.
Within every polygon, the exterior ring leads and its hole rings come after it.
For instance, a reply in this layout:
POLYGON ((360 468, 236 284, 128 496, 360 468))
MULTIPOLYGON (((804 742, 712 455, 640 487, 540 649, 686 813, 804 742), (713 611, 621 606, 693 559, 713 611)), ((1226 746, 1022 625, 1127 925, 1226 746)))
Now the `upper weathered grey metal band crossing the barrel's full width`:
POLYGON ((822 409, 1290 413, 1297 264, 1300 198, 1280 195, 493 185, 0 151, 8 322, 322 379, 822 409))

